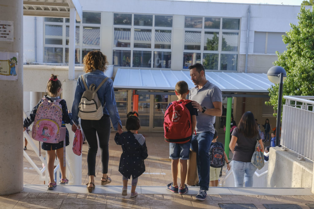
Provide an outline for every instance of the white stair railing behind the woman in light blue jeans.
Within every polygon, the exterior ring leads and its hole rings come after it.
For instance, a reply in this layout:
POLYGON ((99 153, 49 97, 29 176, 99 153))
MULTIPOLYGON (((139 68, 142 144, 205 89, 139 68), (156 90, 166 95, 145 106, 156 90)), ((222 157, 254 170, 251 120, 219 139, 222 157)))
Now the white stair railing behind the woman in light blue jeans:
MULTIPOLYGON (((230 164, 231 164, 230 166, 232 166, 232 161, 230 164)), ((267 187, 267 173, 268 173, 268 161, 265 161, 264 167, 261 170, 256 170, 253 175, 253 187, 267 187)), ((232 169, 230 169, 229 171, 226 169, 226 176, 221 181, 221 186, 234 187, 235 186, 234 181, 235 180, 233 177, 232 169)))

